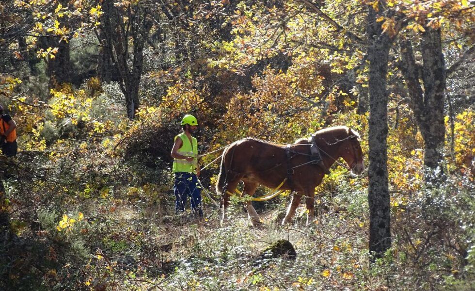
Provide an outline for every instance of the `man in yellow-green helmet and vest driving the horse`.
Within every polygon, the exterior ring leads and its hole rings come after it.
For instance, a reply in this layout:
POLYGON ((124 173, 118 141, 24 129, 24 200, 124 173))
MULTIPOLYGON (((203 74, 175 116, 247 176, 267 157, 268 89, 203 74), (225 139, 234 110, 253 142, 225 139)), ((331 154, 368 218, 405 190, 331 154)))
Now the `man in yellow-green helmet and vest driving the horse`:
POLYGON ((200 166, 198 164, 198 142, 192 137, 198 126, 193 115, 187 114, 181 121, 183 133, 175 136, 171 156, 173 157, 173 173, 175 176, 175 213, 184 212, 188 196, 195 217, 203 217, 201 209, 201 188, 198 184, 200 166))

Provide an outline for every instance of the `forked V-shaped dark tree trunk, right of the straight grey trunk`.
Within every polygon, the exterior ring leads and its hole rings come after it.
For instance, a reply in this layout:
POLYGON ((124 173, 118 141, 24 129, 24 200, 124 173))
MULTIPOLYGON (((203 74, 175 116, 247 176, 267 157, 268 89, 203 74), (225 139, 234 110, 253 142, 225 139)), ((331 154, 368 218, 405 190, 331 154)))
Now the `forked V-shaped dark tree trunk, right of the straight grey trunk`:
POLYGON ((440 29, 428 27, 421 37, 423 65, 417 65, 410 40, 400 42, 401 62, 411 97, 411 108, 424 139, 425 178, 429 183, 441 182, 445 125, 443 115, 445 62, 440 29), (423 80, 424 90, 420 79, 423 80))

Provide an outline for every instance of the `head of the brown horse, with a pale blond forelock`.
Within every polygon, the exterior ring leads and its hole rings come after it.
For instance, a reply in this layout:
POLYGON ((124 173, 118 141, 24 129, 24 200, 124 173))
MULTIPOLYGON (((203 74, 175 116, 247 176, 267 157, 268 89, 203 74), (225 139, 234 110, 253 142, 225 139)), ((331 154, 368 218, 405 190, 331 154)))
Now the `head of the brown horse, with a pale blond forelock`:
POLYGON ((360 175, 364 172, 363 151, 360 146, 361 136, 353 129, 348 129, 348 137, 340 146, 340 154, 347 162, 351 172, 360 175))

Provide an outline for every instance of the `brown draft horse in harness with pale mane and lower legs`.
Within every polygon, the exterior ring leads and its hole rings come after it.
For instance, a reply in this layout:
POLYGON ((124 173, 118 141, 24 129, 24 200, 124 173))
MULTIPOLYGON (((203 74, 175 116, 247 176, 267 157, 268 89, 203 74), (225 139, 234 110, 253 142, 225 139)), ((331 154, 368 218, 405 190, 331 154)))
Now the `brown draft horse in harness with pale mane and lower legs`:
MULTIPOLYGON (((216 190, 222 194, 222 221, 229 205, 229 193, 234 193, 240 181, 244 182, 243 195, 253 196, 257 186, 262 184, 280 190, 296 193, 288 206, 282 224, 289 223, 302 196, 308 210, 307 225, 314 220, 314 196, 324 176, 324 171, 312 162, 310 146, 315 142, 325 166, 330 166, 338 158, 343 158, 348 168, 355 174, 364 171, 360 135, 353 129, 337 126, 318 130, 309 139, 300 139, 291 145, 279 145, 253 138, 245 138, 228 146, 221 161, 221 171, 216 190)), ((253 225, 260 220, 251 201, 246 209, 253 225)))

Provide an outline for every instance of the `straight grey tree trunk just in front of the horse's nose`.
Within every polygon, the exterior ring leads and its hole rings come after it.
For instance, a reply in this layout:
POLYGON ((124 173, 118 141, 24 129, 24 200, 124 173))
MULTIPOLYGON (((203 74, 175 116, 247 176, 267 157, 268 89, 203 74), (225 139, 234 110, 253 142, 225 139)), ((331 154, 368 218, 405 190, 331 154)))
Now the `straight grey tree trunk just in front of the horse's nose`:
POLYGON ((377 258, 391 247, 391 213, 387 170, 386 74, 392 39, 382 33, 377 14, 369 8, 367 32, 369 61, 369 251, 377 258))

